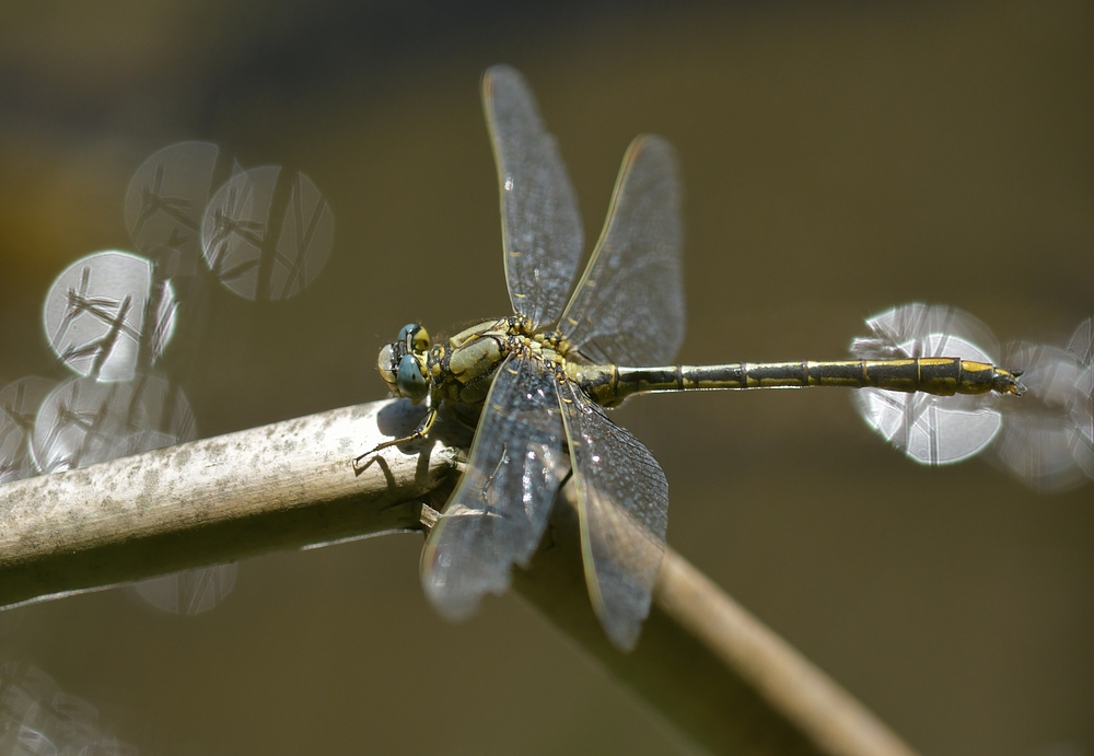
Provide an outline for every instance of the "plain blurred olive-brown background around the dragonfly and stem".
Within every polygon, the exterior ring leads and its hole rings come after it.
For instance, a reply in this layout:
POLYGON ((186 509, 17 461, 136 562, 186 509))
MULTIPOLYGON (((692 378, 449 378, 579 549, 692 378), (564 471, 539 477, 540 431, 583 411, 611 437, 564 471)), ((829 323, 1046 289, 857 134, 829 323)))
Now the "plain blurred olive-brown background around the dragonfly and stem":
MULTIPOLYGON (((1059 341, 1094 314, 1079 0, 2 15, 0 384, 63 376, 42 327, 50 283, 131 249, 130 177, 200 139, 303 171, 336 226, 300 295, 211 296, 184 384, 199 433, 382 398, 375 354, 404 323, 509 312, 478 90, 501 61, 559 138, 586 240, 630 139, 676 146, 683 362, 840 359, 865 317, 910 301, 968 310, 1004 341, 1059 341)), ((670 544, 922 753, 1094 753, 1094 485, 1048 496, 978 461, 916 465, 838 391, 655 396, 614 417, 664 466, 670 544)), ((247 561, 196 616, 123 591, 26 607, 2 617, 0 661, 43 671, 142 754, 680 748, 517 598, 443 623, 420 548, 247 561)))

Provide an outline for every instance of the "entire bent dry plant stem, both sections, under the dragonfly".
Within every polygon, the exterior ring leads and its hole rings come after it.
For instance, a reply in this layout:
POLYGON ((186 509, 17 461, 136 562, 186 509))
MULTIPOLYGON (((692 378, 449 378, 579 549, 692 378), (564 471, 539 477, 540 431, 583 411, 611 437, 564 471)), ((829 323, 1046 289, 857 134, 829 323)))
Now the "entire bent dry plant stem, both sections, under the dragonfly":
MULTIPOLYGON (((354 536, 420 530, 466 434, 350 460, 417 423, 404 402, 347 407, 0 487, 0 606, 354 536)), ((568 491, 514 589, 712 753, 910 756, 911 749, 678 555, 668 551, 638 649, 592 613, 568 491)), ((676 505, 679 505, 677 503, 676 505)))

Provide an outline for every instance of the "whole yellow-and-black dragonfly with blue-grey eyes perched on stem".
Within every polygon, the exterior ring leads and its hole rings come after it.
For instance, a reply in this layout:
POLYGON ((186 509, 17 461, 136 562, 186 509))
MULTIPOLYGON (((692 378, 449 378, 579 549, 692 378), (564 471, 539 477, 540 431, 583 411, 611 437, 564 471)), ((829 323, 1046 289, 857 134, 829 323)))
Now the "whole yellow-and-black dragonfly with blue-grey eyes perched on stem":
POLYGON ((574 284, 581 218, 532 90, 515 69, 496 66, 484 74, 482 100, 513 314, 437 344, 420 324, 404 326, 377 367, 394 395, 424 402, 427 412, 409 435, 353 461, 423 438, 442 406, 478 411, 466 469, 422 554, 422 584, 442 615, 467 617, 487 593, 507 590, 572 478, 593 608, 617 648, 635 648, 665 549, 668 485, 649 450, 605 412, 628 396, 805 386, 1022 393, 1015 374, 961 357, 670 364, 684 338, 673 147, 649 135, 631 142, 574 284))

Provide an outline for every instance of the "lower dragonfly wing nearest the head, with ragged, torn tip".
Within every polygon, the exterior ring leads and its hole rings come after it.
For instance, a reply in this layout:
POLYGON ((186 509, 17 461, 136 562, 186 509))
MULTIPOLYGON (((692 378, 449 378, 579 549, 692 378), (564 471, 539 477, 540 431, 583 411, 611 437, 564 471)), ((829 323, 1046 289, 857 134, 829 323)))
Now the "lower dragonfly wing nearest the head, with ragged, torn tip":
POLYGON ((527 565, 569 472, 558 384, 525 358, 499 368, 467 470, 422 553, 426 595, 444 616, 466 617, 527 565))

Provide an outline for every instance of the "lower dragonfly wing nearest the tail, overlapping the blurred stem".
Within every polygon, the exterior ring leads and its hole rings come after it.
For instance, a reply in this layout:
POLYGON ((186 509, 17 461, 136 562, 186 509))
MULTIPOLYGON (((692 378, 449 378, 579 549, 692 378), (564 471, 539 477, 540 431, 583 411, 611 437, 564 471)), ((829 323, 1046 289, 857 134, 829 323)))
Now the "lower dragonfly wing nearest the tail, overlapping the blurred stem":
POLYGON ((608 638, 628 651, 665 553, 668 482, 638 439, 572 384, 562 391, 589 595, 608 638))

